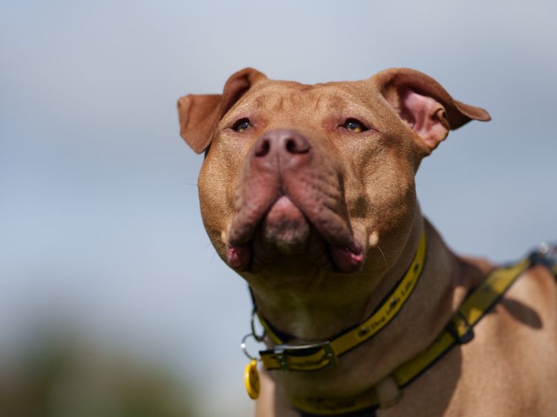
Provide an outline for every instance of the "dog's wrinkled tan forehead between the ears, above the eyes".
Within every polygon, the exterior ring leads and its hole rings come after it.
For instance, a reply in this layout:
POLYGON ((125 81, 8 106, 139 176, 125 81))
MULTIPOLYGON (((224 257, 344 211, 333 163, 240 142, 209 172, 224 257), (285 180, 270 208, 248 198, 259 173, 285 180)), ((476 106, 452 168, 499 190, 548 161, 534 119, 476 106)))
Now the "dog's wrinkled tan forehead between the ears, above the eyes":
POLYGON ((361 107, 370 110, 372 89, 362 81, 301 84, 266 81, 249 91, 237 104, 237 111, 256 108, 271 113, 331 113, 361 107))

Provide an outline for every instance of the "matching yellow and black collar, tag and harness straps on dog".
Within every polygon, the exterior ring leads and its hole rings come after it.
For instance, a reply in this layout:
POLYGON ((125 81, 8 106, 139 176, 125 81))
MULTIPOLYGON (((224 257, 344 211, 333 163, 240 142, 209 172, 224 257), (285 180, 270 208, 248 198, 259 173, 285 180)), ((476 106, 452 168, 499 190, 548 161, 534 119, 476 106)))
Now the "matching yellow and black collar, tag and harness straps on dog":
MULTIPOLYGON (((272 349, 259 352, 263 366, 267 370, 285 371, 316 371, 333 366, 338 357, 368 341, 395 318, 414 291, 423 270, 425 254, 425 234, 423 234, 407 272, 391 293, 384 297, 370 318, 331 341, 304 346, 285 345, 269 324, 258 316, 265 332, 276 344, 272 349)), ((453 346, 471 341, 474 325, 499 301, 503 293, 530 265, 538 262, 544 263, 557 275, 557 264, 549 265, 538 255, 539 253, 533 254, 515 265, 494 270, 477 288, 473 289, 430 347, 391 373, 391 377, 399 388, 402 389, 414 381, 453 346)), ((258 340, 260 339, 258 338, 258 340)), ((242 347, 245 345, 242 344, 242 347)), ((256 359, 252 359, 252 362, 246 366, 246 389, 248 389, 250 397, 255 399, 258 396, 259 384, 256 359)), ((375 389, 361 393, 356 398, 291 398, 290 401, 295 409, 301 411, 302 416, 308 417, 336 416, 365 410, 369 410, 372 415, 373 410, 379 407, 375 389)))

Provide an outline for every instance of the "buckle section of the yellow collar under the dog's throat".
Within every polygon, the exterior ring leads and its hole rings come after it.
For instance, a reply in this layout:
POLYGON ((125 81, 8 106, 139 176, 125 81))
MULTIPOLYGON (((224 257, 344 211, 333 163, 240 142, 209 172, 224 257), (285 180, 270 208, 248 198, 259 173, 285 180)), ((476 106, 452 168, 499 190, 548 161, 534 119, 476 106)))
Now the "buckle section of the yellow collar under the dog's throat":
POLYGON ((260 352, 262 356, 269 353, 274 354, 281 370, 320 370, 337 363, 329 341, 300 346, 276 345, 270 350, 260 352))

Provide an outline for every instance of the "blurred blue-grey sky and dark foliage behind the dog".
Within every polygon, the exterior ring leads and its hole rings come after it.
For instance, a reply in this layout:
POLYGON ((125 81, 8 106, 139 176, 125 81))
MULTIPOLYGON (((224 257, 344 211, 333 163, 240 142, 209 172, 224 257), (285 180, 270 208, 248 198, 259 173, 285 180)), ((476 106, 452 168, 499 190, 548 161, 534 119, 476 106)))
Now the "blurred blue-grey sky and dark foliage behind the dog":
POLYGON ((557 239, 554 1, 0 2, 0 414, 250 416, 246 285, 205 234, 175 103, 252 66, 412 67, 493 121, 418 172, 457 252, 557 239))

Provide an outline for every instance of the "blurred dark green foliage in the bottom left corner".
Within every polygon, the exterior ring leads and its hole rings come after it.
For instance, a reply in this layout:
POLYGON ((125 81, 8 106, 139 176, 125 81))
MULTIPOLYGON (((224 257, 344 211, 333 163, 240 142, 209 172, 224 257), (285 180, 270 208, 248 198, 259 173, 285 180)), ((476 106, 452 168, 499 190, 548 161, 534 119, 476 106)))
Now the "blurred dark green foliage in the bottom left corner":
POLYGON ((194 395, 168 370, 77 338, 41 338, 0 363, 0 416, 189 417, 194 395))

